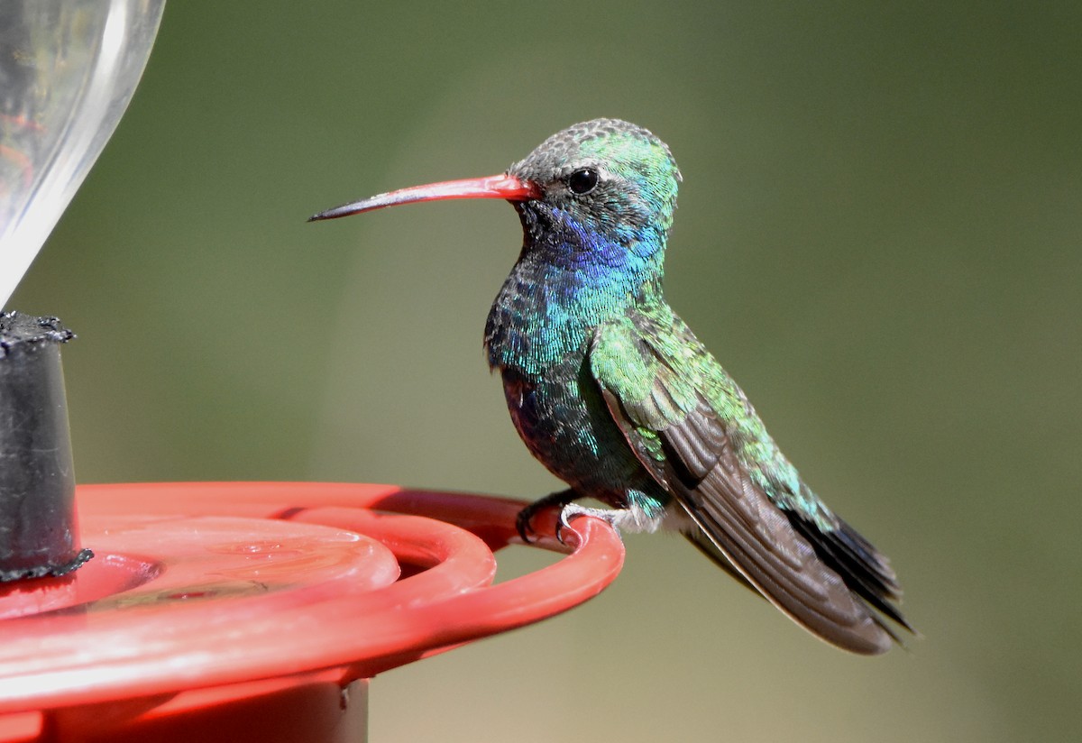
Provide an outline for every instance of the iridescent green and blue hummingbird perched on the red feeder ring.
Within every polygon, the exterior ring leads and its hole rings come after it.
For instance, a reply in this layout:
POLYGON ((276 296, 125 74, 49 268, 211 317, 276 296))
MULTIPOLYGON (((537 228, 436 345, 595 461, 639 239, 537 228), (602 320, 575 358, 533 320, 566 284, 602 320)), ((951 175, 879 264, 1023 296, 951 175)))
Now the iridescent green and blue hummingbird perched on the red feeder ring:
POLYGON ((440 199, 503 199, 523 247, 485 324, 511 420, 568 485, 525 507, 625 532, 682 533, 790 619, 843 650, 885 652, 913 632, 888 559, 834 514, 782 454, 751 402, 662 293, 682 181, 668 145, 595 119, 504 173, 380 194, 331 220, 440 199), (582 499, 607 507, 591 507, 582 499))

